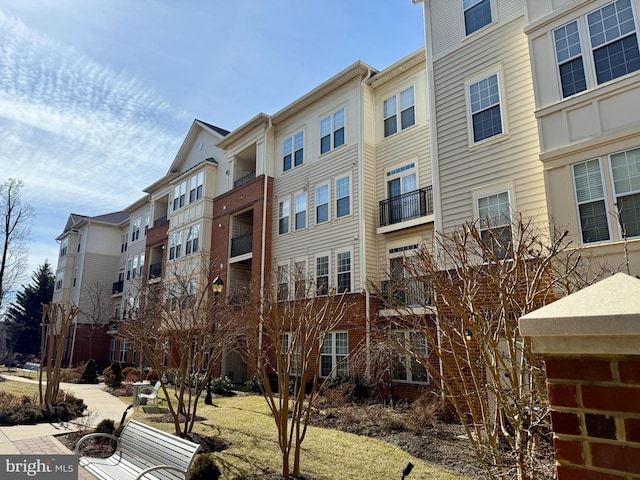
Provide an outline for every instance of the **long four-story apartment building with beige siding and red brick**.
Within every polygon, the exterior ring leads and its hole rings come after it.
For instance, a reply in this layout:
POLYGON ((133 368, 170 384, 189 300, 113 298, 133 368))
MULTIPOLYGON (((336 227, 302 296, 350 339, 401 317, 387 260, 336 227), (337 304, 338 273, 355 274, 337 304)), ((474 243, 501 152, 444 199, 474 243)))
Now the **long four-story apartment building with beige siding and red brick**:
MULTIPOLYGON (((423 5, 425 49, 383 71, 356 62, 233 132, 194 121, 167 174, 101 240, 115 242, 102 269, 114 317, 135 315, 136 282, 170 285, 180 262, 205 252, 211 270, 201 273, 223 279, 231 304, 266 289, 295 300, 310 283, 320 295, 329 286, 345 293, 354 308, 325 338, 318 371, 356 374, 350 358, 362 353, 370 365, 374 322, 401 324, 407 307, 428 313, 401 266, 435 232, 477 221, 508 242, 516 212, 543 225, 551 215, 598 255, 623 251, 625 232, 637 271, 638 5, 414 3, 423 5), (598 18, 618 22, 603 47, 589 33, 598 18), (603 57, 626 70, 600 73, 603 57), (614 228, 615 204, 624 229, 614 228)), ((75 241, 72 224, 60 240, 75 241)), ((72 267, 61 256, 61 282, 72 267)), ((58 291, 54 299, 82 302, 58 291)), ((139 360, 111 333, 110 359, 139 360)), ((260 341, 256 333, 241 343, 255 352, 260 341)), ((230 345, 216 372, 241 382, 253 360, 230 345)), ((394 362, 396 392, 437 388, 409 357, 394 362)))

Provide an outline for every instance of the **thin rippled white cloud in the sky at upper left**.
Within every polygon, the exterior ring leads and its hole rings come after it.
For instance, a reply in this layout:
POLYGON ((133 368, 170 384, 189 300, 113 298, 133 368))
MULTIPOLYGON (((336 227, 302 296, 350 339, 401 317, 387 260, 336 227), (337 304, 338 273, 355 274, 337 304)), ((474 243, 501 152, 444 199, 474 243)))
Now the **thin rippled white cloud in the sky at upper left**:
POLYGON ((55 267, 50 253, 68 214, 107 213, 142 196, 191 120, 134 76, 0 11, 0 181, 21 179, 25 200, 47 218, 34 228, 31 269, 42 254, 55 267))

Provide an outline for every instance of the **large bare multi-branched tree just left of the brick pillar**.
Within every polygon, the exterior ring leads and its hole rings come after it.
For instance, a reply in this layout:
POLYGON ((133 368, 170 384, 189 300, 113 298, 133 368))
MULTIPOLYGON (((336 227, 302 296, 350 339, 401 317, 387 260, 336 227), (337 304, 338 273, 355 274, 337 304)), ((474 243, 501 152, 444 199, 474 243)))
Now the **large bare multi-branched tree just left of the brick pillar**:
POLYGON ((566 231, 544 231, 520 215, 490 223, 436 234, 406 257, 391 290, 411 301, 381 292, 398 315, 380 326, 397 355, 437 380, 487 478, 545 478, 540 453, 551 439, 544 371, 517 319, 581 286, 582 256, 566 231), (420 305, 421 314, 403 304, 420 305))

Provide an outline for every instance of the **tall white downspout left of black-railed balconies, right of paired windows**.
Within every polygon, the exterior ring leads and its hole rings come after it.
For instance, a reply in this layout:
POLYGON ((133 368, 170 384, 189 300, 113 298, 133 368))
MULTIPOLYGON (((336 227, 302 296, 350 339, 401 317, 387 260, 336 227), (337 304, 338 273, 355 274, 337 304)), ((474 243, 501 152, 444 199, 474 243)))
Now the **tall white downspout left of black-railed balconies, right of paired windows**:
MULTIPOLYGON (((367 72, 367 76, 360 82, 360 108, 358 111, 362 114, 363 118, 360 122, 360 139, 362 145, 358 149, 358 170, 360 177, 359 201, 360 208, 364 208, 364 88, 366 82, 373 76, 371 68, 367 72)), ((360 285, 364 287, 365 298, 365 355, 366 355, 366 367, 365 375, 368 378, 371 373, 371 292, 369 285, 367 284, 367 255, 366 255, 366 221, 365 216, 360 212, 360 285)))

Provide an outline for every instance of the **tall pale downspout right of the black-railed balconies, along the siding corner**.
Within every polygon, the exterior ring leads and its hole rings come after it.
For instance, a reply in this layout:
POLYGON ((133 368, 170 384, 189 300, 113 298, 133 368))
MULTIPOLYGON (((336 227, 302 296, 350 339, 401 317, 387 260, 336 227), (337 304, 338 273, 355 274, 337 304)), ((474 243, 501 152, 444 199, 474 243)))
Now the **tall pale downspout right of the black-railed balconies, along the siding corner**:
MULTIPOLYGON (((430 37, 429 30, 429 0, 412 0, 414 4, 422 3, 423 20, 424 20, 424 49, 427 65, 427 98, 429 107, 429 150, 431 152, 431 182, 433 192, 433 233, 437 235, 442 231, 442 202, 440 201, 440 163, 438 161, 438 127, 436 119, 436 95, 435 95, 435 76, 433 73, 433 46, 428 41, 430 37)), ((434 248, 438 248, 437 242, 434 242, 434 248)), ((439 253, 436 251, 436 255, 439 253)), ((436 257, 437 258, 437 257, 436 257)), ((437 313, 436 305, 436 336, 438 347, 438 370, 440 372, 440 392, 444 403, 444 366, 442 364, 442 329, 440 328, 440 320, 437 313)))

